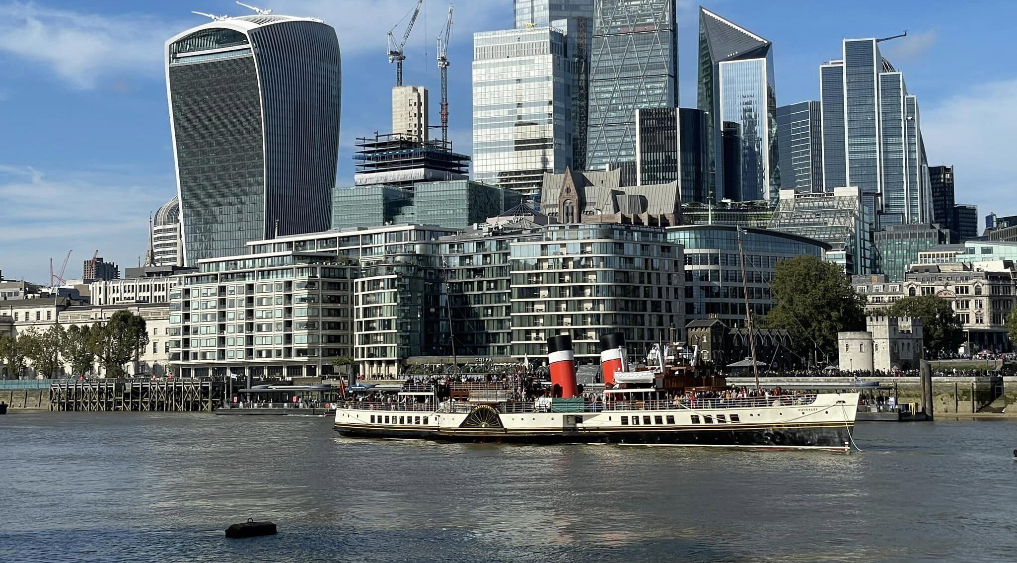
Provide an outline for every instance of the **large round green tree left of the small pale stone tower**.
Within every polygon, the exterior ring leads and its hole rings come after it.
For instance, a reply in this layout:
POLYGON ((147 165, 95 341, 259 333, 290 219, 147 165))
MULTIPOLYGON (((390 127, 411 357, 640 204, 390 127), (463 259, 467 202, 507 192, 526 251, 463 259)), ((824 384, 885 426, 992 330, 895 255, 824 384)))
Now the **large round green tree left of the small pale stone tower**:
POLYGON ((865 327, 864 296, 839 266, 812 255, 778 262, 770 293, 776 306, 761 325, 787 330, 802 357, 827 358, 837 349, 838 332, 865 327))

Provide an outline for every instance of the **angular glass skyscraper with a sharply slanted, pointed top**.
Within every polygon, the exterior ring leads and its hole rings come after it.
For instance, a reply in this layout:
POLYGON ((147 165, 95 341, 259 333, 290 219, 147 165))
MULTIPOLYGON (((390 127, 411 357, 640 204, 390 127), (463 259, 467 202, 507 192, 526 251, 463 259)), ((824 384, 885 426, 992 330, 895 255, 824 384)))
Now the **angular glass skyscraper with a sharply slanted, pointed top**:
POLYGON ((741 136, 741 190, 738 200, 769 200, 780 192, 777 152, 777 95, 773 44, 700 8, 699 108, 711 117, 711 169, 715 185, 724 179, 724 123, 737 123, 741 136))

